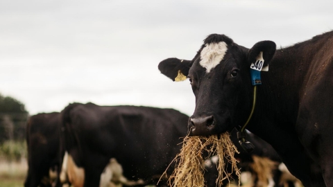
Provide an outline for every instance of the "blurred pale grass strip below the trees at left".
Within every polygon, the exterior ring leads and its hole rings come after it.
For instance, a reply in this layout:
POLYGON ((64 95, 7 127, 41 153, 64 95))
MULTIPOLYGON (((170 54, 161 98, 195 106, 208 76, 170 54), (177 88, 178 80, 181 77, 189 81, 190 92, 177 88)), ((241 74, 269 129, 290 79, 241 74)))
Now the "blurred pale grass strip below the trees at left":
POLYGON ((27 170, 26 159, 12 163, 0 161, 0 186, 22 187, 27 170))

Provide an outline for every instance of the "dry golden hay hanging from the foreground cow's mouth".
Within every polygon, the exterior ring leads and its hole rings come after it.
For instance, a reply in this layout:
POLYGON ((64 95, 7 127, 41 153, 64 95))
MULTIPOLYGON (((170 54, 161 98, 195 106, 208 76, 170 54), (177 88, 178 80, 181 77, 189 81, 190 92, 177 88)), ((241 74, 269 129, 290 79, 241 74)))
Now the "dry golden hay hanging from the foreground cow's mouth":
POLYGON ((216 163, 219 172, 216 179, 217 186, 221 186, 224 179, 228 179, 230 182, 232 172, 240 177, 240 171, 237 168, 238 161, 234 158, 234 153, 239 152, 230 140, 230 134, 224 133, 208 137, 186 136, 182 143, 180 153, 173 159, 176 161, 176 167, 169 177, 170 186, 205 186, 203 177, 205 166, 203 163, 205 159, 214 155, 219 156, 219 161, 216 163), (203 156, 204 153, 207 157, 203 156), (231 173, 225 170, 226 163, 230 163, 231 173))

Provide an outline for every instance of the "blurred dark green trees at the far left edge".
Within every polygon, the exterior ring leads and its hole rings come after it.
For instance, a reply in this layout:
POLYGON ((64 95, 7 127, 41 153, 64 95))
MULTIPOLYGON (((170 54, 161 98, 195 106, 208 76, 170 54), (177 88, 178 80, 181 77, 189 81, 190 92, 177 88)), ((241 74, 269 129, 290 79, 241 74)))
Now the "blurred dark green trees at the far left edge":
POLYGON ((0 143, 24 140, 28 112, 23 103, 0 94, 0 143))

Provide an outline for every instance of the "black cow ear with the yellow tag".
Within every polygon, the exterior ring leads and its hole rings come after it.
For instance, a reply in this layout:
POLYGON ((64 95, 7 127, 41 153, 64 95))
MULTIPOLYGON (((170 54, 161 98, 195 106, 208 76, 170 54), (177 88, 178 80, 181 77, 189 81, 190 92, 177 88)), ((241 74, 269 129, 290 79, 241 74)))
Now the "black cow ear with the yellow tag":
POLYGON ((163 75, 178 82, 186 80, 186 76, 189 75, 189 69, 191 66, 191 60, 179 60, 176 57, 171 57, 160 62, 160 64, 158 64, 158 69, 160 69, 163 75))

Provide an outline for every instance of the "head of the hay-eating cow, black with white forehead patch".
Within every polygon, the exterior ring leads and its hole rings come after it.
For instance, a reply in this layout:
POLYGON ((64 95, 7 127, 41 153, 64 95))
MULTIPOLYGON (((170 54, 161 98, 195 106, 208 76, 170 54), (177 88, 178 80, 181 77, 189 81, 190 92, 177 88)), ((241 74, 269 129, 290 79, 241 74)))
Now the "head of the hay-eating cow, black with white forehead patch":
POLYGON ((225 35, 209 35, 193 60, 169 58, 158 69, 173 81, 189 78, 196 109, 189 118, 192 136, 221 134, 244 125, 253 103, 250 65, 258 57, 264 66, 275 53, 275 43, 258 42, 253 48, 235 44, 225 35))

